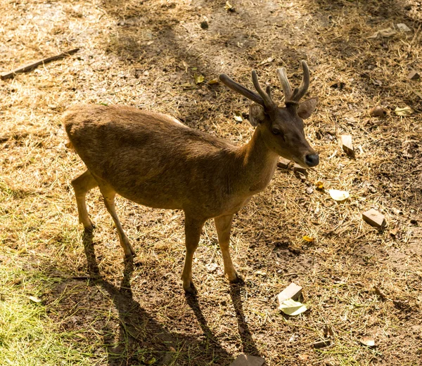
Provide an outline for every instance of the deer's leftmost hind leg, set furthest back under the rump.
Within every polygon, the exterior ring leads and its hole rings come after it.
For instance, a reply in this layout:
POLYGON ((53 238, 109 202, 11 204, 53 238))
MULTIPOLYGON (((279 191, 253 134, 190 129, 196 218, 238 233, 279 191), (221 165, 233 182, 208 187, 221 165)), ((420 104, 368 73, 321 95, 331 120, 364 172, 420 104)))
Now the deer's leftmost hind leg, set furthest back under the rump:
POLYGON ((94 223, 92 223, 89 218, 85 199, 87 197, 87 192, 92 188, 95 188, 97 185, 98 183, 96 179, 92 176, 89 170, 85 171, 84 174, 81 174, 72 181, 72 187, 75 190, 79 223, 84 225, 85 230, 92 230, 95 228, 94 223))

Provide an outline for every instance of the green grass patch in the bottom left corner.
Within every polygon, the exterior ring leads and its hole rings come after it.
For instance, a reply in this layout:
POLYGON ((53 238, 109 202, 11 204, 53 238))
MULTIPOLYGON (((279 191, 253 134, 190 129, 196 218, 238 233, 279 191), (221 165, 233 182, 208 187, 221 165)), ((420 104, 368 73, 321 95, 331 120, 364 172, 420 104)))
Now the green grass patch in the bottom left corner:
POLYGON ((83 329, 65 332, 49 318, 42 299, 57 279, 35 271, 0 265, 0 365, 96 365, 106 355, 94 354, 96 342, 83 329), (81 336, 82 335, 82 336, 81 336))

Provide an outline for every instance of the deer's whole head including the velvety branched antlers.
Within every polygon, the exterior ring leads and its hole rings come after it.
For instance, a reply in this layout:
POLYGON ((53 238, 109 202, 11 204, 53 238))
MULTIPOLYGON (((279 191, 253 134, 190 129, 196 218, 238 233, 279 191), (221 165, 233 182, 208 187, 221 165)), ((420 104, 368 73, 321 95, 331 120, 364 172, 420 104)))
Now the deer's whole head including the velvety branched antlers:
POLYGON ((277 75, 283 87, 285 107, 279 107, 271 98, 271 89, 264 91, 258 82, 257 73, 252 71, 252 82, 257 90, 251 91, 226 74, 220 74, 219 79, 230 89, 252 100, 249 107, 249 121, 252 126, 261 130, 267 148, 281 157, 293 160, 306 167, 319 164, 319 155, 311 148, 303 131, 303 119, 307 119, 316 107, 318 98, 310 98, 303 102, 309 88, 309 69, 302 61, 303 78, 299 88, 292 90, 283 67, 277 70, 277 75))

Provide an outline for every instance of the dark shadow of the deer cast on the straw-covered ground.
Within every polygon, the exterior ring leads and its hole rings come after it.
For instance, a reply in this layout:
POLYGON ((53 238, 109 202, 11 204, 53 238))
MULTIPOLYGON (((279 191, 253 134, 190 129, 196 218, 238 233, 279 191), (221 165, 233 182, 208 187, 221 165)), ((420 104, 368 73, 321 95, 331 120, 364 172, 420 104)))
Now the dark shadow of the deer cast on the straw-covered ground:
MULTIPOLYGON (((222 366, 231 363, 232 356, 222 347, 207 325, 207 320, 201 311, 196 296, 186 295, 186 302, 198 320, 205 336, 205 342, 198 340, 198 336, 186 336, 170 332, 165 325, 157 322, 153 315, 141 307, 139 302, 134 299, 130 284, 134 271, 132 259, 124 260, 123 277, 120 287, 117 287, 101 277, 96 261, 92 232, 84 232, 83 243, 89 275, 94 280, 93 283, 100 286, 108 294, 118 314, 119 329, 117 336, 114 336, 114 338, 105 336, 104 339, 108 351, 108 365, 132 365, 139 363, 139 361, 148 362, 153 358, 157 360, 159 365, 188 365, 190 361, 180 359, 182 353, 177 352, 184 347, 191 347, 196 350, 203 348, 200 352, 198 366, 209 365, 210 362, 213 362, 213 365, 222 366), (148 350, 148 352, 141 355, 139 350, 148 350)), ((241 285, 231 286, 230 296, 236 312, 243 352, 259 355, 243 315, 241 285)))

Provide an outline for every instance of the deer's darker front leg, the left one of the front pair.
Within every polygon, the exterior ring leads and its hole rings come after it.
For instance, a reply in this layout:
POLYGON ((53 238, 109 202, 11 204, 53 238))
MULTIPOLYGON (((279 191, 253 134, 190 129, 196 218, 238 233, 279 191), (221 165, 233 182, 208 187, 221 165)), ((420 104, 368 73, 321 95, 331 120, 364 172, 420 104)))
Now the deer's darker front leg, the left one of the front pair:
POLYGON ((205 221, 198 221, 195 218, 185 216, 185 235, 186 235, 186 259, 181 279, 185 292, 195 295, 197 293, 192 281, 192 259, 193 253, 198 248, 200 233, 205 221))

